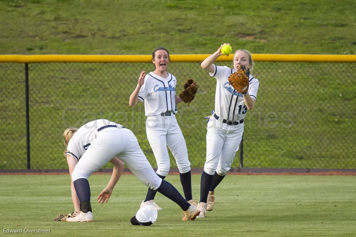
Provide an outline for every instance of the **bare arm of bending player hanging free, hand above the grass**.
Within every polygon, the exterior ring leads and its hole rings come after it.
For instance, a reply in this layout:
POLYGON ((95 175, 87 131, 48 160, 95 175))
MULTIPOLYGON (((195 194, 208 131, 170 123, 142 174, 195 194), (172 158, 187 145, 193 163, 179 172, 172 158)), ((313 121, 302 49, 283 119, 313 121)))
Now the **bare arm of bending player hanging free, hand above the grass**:
POLYGON ((101 204, 109 201, 112 190, 114 189, 117 181, 120 179, 122 171, 124 170, 124 163, 121 160, 119 160, 119 158, 117 157, 112 158, 110 160, 110 163, 114 165, 114 169, 112 169, 112 175, 108 185, 106 186, 105 189, 103 189, 103 191, 101 191, 101 193, 97 198, 97 200, 99 200, 98 202, 99 203, 101 202, 101 204))

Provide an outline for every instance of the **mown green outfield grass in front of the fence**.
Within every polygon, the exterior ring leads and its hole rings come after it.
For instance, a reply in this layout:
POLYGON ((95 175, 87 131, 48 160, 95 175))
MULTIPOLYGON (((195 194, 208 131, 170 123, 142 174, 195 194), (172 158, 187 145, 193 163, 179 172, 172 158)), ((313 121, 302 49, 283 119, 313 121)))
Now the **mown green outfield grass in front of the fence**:
MULTIPOLYGON (((181 221, 182 211, 157 194, 163 207, 150 227, 132 226, 146 194, 133 175, 122 175, 106 204, 95 203, 110 175, 89 178, 94 222, 54 222, 71 212, 69 175, 1 175, 3 229, 50 229, 31 236, 356 236, 355 176, 227 175, 215 190, 216 205, 204 219, 181 221)), ((182 193, 178 175, 167 180, 182 193)), ((199 199, 200 175, 192 176, 193 197, 199 199)))

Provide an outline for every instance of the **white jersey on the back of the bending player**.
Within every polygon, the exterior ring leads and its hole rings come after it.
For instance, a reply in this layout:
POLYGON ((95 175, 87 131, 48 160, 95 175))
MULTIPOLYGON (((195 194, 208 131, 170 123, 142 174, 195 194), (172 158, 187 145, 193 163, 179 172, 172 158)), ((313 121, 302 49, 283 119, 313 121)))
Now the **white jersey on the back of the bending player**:
POLYGON ((98 129, 107 125, 122 127, 122 125, 106 119, 98 119, 85 123, 78 129, 77 132, 74 133, 73 137, 70 138, 66 154, 69 154, 79 160, 80 157, 83 156, 84 152, 87 151, 91 143, 93 143, 98 129))

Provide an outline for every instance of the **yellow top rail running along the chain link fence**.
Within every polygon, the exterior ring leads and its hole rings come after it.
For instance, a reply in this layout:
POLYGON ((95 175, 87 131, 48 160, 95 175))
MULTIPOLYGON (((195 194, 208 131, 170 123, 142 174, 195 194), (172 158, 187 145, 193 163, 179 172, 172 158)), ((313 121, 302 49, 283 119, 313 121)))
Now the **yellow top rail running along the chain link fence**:
MULTIPOLYGON (((172 54, 172 62, 202 62, 210 54, 172 54)), ((220 56, 216 61, 232 61, 234 54, 220 56)), ((340 54, 252 54, 256 62, 356 62, 356 55, 340 54)), ((151 55, 76 55, 76 54, 43 54, 43 55, 0 55, 0 63, 147 63, 151 55)))

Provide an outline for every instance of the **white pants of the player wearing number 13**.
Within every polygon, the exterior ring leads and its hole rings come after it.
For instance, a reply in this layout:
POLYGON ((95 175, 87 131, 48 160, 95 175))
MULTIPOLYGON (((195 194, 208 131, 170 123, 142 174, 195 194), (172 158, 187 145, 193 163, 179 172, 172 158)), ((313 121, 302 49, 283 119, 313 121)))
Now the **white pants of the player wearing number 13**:
POLYGON ((223 119, 211 116, 206 132, 206 161, 204 171, 225 175, 231 168, 244 133, 244 123, 227 125, 223 119))

